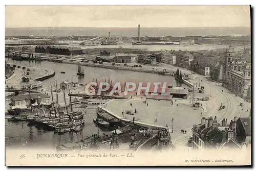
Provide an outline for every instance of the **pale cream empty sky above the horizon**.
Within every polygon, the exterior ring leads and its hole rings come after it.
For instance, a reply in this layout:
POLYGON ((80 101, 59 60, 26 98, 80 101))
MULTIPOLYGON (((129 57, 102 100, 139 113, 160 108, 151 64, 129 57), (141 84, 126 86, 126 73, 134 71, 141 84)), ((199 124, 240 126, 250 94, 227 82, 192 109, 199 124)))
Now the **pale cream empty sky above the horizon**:
POLYGON ((250 27, 249 6, 6 6, 6 28, 250 27))

